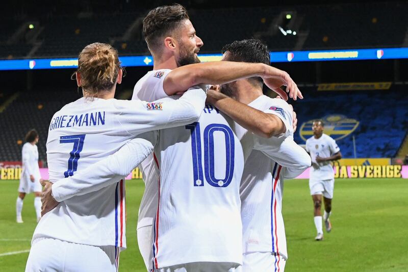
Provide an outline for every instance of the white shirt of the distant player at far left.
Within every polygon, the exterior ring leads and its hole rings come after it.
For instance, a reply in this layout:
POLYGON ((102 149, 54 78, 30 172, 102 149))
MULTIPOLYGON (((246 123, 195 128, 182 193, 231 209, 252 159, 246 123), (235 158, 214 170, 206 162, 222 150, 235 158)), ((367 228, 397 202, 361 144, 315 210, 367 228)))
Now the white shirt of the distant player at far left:
POLYGON ((38 147, 36 144, 26 142, 21 150, 22 170, 21 177, 33 175, 38 182, 41 178, 40 168, 38 166, 38 147))

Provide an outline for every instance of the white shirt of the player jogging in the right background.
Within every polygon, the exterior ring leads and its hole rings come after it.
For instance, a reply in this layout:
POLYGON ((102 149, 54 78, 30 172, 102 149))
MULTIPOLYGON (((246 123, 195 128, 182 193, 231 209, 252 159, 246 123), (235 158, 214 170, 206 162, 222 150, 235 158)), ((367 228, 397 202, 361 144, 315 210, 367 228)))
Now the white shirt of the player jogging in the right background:
POLYGON ((318 168, 310 168, 311 180, 331 180, 334 179, 333 166, 329 161, 316 162, 316 157, 327 158, 340 151, 336 141, 326 134, 322 134, 319 139, 312 136, 306 141, 306 151, 309 152, 312 157, 312 162, 318 165, 318 168))

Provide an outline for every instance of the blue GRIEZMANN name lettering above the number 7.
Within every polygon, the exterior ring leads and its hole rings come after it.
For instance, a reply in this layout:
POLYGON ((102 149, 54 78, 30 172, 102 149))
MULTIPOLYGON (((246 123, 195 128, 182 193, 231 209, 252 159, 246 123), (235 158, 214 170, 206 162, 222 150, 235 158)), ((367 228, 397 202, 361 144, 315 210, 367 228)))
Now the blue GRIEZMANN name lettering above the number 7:
POLYGON ((61 115, 53 118, 49 125, 49 130, 59 128, 72 128, 82 126, 103 126, 105 125, 105 111, 91 112, 81 115, 61 115))

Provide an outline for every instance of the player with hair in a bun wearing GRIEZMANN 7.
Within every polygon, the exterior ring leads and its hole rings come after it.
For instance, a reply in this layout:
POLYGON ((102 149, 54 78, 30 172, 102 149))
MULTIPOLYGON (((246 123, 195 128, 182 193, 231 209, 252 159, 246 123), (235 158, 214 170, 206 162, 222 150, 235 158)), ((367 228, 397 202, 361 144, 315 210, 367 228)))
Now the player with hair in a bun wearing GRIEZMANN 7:
MULTIPOLYGON (((56 187, 58 180, 117 152, 141 133, 197 120, 205 105, 201 87, 177 101, 115 100, 122 68, 117 51, 104 43, 84 48, 75 75, 84 97, 55 113, 48 131, 48 170, 56 187)), ((141 161, 152 145, 141 139, 135 144, 141 145, 136 154, 141 161)), ((26 271, 117 271, 119 251, 126 247, 123 180, 124 175, 111 179, 108 186, 75 195, 46 213, 34 231, 26 271)))

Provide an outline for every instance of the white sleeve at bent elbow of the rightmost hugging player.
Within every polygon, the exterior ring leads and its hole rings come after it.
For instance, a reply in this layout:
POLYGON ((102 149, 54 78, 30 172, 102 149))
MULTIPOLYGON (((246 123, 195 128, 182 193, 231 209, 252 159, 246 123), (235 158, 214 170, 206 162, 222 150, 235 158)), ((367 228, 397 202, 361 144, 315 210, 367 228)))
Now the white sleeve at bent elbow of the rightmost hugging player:
MULTIPOLYGON (((261 138, 261 137, 260 137, 261 138)), ((311 166, 309 154, 291 137, 270 138, 269 144, 257 145, 255 149, 286 167, 285 178, 296 178, 311 166)))

